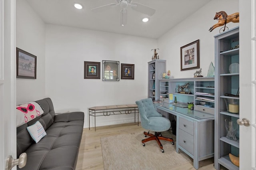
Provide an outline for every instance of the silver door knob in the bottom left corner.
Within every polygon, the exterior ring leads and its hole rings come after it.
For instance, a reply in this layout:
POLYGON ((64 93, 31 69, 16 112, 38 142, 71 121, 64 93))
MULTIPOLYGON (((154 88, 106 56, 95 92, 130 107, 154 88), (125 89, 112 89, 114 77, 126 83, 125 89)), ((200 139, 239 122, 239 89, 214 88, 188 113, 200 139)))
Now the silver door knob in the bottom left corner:
POLYGON ((20 154, 20 157, 18 159, 13 159, 12 156, 10 155, 7 158, 6 161, 6 167, 5 170, 11 170, 14 166, 17 166, 19 168, 23 168, 27 163, 27 154, 24 152, 20 154))

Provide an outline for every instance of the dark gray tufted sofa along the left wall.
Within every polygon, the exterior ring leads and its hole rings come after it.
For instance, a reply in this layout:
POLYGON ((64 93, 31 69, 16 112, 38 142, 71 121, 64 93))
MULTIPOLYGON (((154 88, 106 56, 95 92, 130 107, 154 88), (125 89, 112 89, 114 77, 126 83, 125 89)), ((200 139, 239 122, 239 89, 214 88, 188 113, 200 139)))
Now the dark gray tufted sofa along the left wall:
POLYGON ((28 155, 27 164, 22 170, 74 170, 82 138, 84 113, 56 114, 50 98, 35 102, 42 107, 44 113, 17 127, 17 158, 22 152, 28 155), (46 131, 46 136, 38 143, 26 129, 36 121, 46 131))

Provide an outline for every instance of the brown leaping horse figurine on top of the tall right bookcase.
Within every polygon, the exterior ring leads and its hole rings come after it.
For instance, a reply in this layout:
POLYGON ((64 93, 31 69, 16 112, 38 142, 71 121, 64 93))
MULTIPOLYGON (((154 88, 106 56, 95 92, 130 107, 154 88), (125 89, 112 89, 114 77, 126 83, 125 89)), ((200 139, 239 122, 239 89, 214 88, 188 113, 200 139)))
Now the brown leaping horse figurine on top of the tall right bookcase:
POLYGON ((224 26, 224 30, 226 28, 226 24, 229 22, 237 23, 239 22, 239 12, 236 12, 234 14, 228 15, 225 11, 216 12, 216 15, 213 18, 214 20, 218 20, 217 24, 214 24, 209 31, 212 32, 217 27, 224 26))

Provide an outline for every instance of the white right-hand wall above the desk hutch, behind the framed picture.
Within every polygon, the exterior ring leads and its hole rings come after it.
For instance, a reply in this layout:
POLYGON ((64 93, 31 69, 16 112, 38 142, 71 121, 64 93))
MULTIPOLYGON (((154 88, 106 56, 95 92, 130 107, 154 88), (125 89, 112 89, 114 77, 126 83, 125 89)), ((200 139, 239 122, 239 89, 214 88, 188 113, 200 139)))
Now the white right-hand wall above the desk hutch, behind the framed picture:
MULTIPOLYGON (((212 32, 208 30, 218 22, 213 18, 216 12, 220 11, 225 11, 228 15, 239 12, 238 0, 212 0, 158 38, 159 56, 161 59, 166 59, 166 69, 171 71, 174 78, 194 77, 194 72, 199 70, 180 71, 180 47, 198 39, 200 40, 200 68, 202 68, 202 75, 207 76, 211 61, 214 64, 214 36, 219 34, 221 27, 215 28, 212 32)), ((230 22, 226 26, 231 29, 238 25, 239 23, 230 22)))

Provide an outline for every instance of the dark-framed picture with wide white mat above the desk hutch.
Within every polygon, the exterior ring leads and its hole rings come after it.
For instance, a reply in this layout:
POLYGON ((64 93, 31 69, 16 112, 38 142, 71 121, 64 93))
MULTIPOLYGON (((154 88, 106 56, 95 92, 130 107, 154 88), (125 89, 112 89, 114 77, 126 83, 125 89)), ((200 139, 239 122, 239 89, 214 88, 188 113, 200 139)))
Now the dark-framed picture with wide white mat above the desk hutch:
POLYGON ((180 71, 198 69, 199 58, 199 40, 180 47, 180 71))

